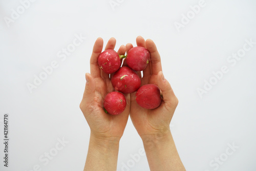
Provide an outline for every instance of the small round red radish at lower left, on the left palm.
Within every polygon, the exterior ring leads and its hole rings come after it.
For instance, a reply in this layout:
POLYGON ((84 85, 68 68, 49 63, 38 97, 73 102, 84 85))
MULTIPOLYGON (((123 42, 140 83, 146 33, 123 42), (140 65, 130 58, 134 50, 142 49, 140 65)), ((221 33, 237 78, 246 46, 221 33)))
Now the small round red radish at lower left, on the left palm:
POLYGON ((122 93, 111 92, 106 95, 103 106, 106 113, 118 115, 124 111, 126 99, 122 93))

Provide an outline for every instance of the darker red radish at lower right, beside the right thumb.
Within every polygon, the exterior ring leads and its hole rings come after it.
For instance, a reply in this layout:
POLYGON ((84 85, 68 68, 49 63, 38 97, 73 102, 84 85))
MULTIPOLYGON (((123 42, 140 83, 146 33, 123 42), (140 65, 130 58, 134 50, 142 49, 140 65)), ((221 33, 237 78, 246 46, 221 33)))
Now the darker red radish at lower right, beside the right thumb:
POLYGON ((161 104, 162 95, 155 84, 145 84, 136 92, 137 103, 145 109, 155 109, 161 104))

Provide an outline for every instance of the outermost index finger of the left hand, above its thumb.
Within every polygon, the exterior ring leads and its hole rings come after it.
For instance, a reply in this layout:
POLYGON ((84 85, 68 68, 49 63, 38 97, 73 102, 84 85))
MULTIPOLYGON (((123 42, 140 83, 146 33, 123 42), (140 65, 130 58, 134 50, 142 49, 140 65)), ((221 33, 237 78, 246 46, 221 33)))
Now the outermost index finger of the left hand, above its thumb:
POLYGON ((103 39, 97 38, 95 41, 95 44, 93 46, 93 53, 90 59, 90 71, 93 78, 100 77, 100 68, 98 65, 98 57, 102 51, 103 48, 103 39))

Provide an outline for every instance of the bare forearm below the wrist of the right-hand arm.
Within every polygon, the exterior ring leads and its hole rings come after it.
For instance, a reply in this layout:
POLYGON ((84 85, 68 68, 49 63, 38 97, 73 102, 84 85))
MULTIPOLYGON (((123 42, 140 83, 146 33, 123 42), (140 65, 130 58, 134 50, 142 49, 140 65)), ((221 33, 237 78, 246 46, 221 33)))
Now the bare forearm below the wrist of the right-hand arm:
POLYGON ((170 131, 141 138, 151 171, 185 170, 170 131))

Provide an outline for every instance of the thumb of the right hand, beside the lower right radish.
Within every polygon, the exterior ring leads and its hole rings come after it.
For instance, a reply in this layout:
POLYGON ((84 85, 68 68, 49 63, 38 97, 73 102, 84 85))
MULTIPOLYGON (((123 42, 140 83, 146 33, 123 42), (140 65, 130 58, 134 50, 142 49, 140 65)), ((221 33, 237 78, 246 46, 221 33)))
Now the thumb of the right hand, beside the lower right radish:
POLYGON ((176 108, 178 105, 178 98, 175 96, 170 83, 164 78, 163 72, 159 71, 157 74, 157 84, 159 89, 162 91, 163 101, 167 106, 176 108))

